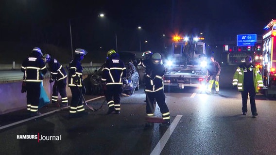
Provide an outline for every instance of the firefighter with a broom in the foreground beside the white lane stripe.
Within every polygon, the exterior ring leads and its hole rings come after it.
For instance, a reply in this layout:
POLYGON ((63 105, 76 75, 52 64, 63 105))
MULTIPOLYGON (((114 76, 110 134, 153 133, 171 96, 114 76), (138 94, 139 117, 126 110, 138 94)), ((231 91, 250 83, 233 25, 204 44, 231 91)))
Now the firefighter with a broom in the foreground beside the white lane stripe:
POLYGON ((165 74, 165 66, 162 64, 162 57, 159 53, 152 55, 152 61, 149 63, 148 71, 146 72, 146 112, 147 116, 154 116, 154 100, 156 100, 164 123, 161 126, 171 124, 170 111, 165 102, 163 76, 165 74))

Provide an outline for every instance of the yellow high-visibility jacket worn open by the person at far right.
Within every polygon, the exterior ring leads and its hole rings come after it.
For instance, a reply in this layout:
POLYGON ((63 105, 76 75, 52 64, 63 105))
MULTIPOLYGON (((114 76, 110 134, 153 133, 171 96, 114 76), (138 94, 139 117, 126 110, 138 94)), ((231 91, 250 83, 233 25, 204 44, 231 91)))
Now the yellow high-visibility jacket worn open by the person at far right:
POLYGON ((238 91, 242 92, 243 91, 243 86, 244 86, 244 72, 247 72, 247 69, 249 71, 252 71, 253 74, 253 83, 254 83, 254 88, 255 92, 259 93, 258 86, 263 87, 263 82, 261 78, 261 73, 259 71, 259 68, 251 63, 249 68, 246 68, 245 63, 241 66, 239 66, 234 74, 233 77, 233 86, 238 86, 238 91))

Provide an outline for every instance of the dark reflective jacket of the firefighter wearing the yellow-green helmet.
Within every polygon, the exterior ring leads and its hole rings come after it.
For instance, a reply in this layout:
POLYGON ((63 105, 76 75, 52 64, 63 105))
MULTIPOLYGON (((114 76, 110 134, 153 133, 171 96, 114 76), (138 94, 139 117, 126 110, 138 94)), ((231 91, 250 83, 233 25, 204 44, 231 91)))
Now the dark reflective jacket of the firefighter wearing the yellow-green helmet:
MULTIPOLYGON (((116 55, 112 54, 111 56, 116 55)), ((122 85, 122 78, 126 77, 126 68, 118 56, 113 56, 105 62, 102 82, 106 85, 122 85)))

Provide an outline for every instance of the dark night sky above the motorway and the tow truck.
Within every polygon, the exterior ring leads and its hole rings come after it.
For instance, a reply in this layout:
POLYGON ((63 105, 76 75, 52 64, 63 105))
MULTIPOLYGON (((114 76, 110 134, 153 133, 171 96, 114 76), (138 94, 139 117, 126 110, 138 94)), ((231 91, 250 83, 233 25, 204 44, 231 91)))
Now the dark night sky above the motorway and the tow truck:
POLYGON ((1 0, 0 42, 70 49, 70 21, 73 48, 88 51, 115 49, 115 36, 119 50, 139 51, 139 41, 142 50, 162 50, 173 34, 200 32, 214 43, 237 34, 261 35, 276 18, 275 4, 275 0, 1 0))

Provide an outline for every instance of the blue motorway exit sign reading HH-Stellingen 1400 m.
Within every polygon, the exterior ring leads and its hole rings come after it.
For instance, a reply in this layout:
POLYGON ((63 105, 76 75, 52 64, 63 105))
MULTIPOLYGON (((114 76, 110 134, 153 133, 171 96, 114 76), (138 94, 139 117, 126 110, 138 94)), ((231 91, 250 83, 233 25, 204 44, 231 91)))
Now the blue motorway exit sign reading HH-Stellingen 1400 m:
POLYGON ((238 34, 237 46, 255 46, 257 34, 238 34))

